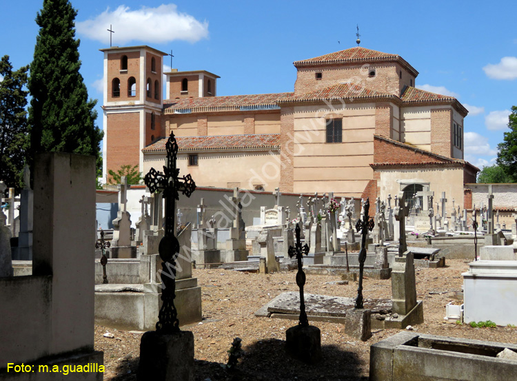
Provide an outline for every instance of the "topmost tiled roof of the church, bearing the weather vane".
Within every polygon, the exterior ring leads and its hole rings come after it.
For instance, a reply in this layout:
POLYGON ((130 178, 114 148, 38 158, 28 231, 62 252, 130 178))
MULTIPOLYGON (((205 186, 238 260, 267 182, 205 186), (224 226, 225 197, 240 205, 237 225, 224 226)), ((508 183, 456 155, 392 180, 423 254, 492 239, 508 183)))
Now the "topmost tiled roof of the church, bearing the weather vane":
POLYGON ((311 59, 295 61, 294 66, 298 67, 310 65, 328 65, 336 63, 367 63, 386 61, 398 61, 405 68, 407 68, 409 72, 412 72, 415 76, 418 75, 418 72, 415 70, 415 68, 413 68, 412 65, 409 65, 409 63, 407 63, 398 54, 378 52, 377 50, 366 49, 361 46, 341 50, 339 52, 324 54, 323 56, 318 56, 311 59))

